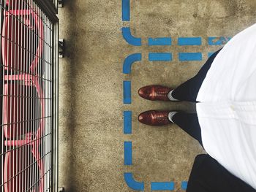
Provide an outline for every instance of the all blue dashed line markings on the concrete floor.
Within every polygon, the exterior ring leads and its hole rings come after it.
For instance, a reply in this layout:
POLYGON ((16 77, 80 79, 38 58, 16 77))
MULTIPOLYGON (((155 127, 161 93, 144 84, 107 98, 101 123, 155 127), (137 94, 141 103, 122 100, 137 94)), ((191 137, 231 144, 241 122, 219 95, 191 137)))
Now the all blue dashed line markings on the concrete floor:
MULTIPOLYGON (((121 9, 122 9, 122 21, 130 21, 131 13, 130 13, 130 0, 121 0, 121 9)), ((131 28, 123 27, 121 29, 124 39, 129 43, 129 45, 141 46, 142 39, 138 37, 132 36, 131 28)), ((231 39, 231 38, 229 38, 231 39)), ((208 37, 208 45, 224 45, 227 42, 225 37, 217 39, 217 37, 208 37)), ((160 38, 148 38, 148 46, 154 45, 172 45, 171 37, 160 37, 160 38)), ((187 45, 202 45, 202 37, 180 37, 178 38, 178 45, 187 46, 187 45)), ((212 53, 208 53, 210 57, 212 53)), ((179 53, 180 61, 201 61, 202 53, 179 53)), ((130 74, 132 70, 132 64, 136 61, 141 61, 141 53, 135 53, 129 55, 123 64, 123 73, 130 74)), ((172 53, 149 53, 148 54, 149 61, 172 61, 173 55, 172 53)), ((124 81, 124 104, 131 104, 131 81, 124 81)), ((132 111, 124 111, 124 134, 132 134, 132 111)), ((132 142, 124 142, 124 164, 132 165, 132 142)), ((129 186, 135 191, 143 191, 144 183, 138 182, 133 179, 132 172, 124 173, 124 180, 129 186)), ((175 186, 173 182, 167 183, 151 183, 152 191, 161 191, 174 190, 175 186)), ((187 181, 181 182, 181 189, 187 189, 187 181)))

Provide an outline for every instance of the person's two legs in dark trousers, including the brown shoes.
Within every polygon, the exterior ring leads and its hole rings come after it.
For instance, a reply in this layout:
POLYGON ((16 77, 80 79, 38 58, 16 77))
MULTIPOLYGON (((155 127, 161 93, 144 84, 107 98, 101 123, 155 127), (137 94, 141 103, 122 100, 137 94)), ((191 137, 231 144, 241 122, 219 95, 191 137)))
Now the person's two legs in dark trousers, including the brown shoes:
MULTIPOLYGON (((171 90, 170 88, 162 88, 162 87, 159 88, 159 91, 157 90, 152 91, 151 87, 155 89, 157 87, 156 85, 151 85, 149 87, 144 87, 143 89, 145 90, 140 89, 139 91, 140 96, 149 100, 158 99, 161 101, 168 101, 170 99, 171 101, 175 101, 175 99, 178 99, 178 101, 196 102, 197 93, 200 89, 200 86, 202 85, 202 82, 206 77, 208 69, 210 69, 212 62, 214 61, 214 58, 217 56, 219 51, 220 50, 218 50, 213 55, 211 55, 210 58, 208 58, 208 61, 206 61, 206 64, 203 65, 203 67, 200 69, 197 75, 195 75, 195 77, 192 77, 192 79, 187 80, 187 82, 184 82, 183 84, 179 85, 178 88, 174 89, 173 91, 170 91, 171 90), (152 99, 151 95, 153 95, 155 98, 152 99)), ((202 137, 201 137, 201 128, 198 123, 197 114, 151 110, 151 111, 141 113, 138 116, 138 120, 141 123, 151 125, 151 126, 161 126, 171 122, 176 123, 184 131, 186 131, 187 134, 197 139, 197 141, 200 142, 200 145, 203 146, 202 137)))

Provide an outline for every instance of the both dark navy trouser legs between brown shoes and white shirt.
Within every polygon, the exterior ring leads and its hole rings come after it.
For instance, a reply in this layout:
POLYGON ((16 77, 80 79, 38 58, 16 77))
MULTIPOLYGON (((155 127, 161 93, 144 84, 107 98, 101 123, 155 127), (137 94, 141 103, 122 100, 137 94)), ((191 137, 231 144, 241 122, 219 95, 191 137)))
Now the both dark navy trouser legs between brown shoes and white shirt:
MULTIPOLYGON (((200 69, 200 71, 187 82, 182 83, 173 91, 173 98, 180 101, 191 101, 197 102, 197 94, 206 77, 208 69, 210 69, 214 58, 217 56, 220 50, 211 55, 206 61, 206 64, 200 69)), ((201 137, 201 128, 198 123, 197 114, 178 112, 173 115, 173 122, 180 126, 184 131, 187 132, 191 137, 197 139, 200 145, 203 146, 201 137)))

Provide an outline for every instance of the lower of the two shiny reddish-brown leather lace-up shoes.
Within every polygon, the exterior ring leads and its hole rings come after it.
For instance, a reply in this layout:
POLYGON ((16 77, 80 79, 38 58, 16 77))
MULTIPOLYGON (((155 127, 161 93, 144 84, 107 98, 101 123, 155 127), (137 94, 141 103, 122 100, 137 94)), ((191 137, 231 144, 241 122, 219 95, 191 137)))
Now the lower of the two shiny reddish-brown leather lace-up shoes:
POLYGON ((146 124, 148 126, 165 126, 171 124, 172 122, 168 119, 168 114, 170 111, 156 111, 150 110, 140 113, 138 120, 140 123, 146 124))

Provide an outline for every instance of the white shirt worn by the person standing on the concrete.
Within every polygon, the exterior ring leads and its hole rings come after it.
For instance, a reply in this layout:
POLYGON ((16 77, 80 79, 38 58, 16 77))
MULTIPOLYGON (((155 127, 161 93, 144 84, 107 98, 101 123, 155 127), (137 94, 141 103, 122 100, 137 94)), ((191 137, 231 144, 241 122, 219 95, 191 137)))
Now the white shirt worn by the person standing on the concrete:
POLYGON ((256 24, 219 52, 197 101, 208 155, 256 189, 256 24))

